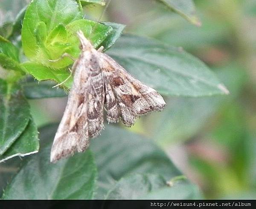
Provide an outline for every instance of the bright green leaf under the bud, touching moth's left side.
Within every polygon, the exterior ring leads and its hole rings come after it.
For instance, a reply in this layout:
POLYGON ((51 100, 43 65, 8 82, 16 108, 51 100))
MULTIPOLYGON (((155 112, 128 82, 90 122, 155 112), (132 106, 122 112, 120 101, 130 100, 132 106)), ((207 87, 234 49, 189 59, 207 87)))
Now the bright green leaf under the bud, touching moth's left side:
MULTIPOLYGON (((34 62, 25 62, 23 67, 26 68, 26 71, 34 76, 38 81, 44 80, 54 80, 55 82, 62 82, 70 75, 70 71, 67 69, 52 69, 45 67, 44 65, 34 63, 34 62)), ((65 82, 64 87, 70 88, 72 85, 72 77, 65 82)))

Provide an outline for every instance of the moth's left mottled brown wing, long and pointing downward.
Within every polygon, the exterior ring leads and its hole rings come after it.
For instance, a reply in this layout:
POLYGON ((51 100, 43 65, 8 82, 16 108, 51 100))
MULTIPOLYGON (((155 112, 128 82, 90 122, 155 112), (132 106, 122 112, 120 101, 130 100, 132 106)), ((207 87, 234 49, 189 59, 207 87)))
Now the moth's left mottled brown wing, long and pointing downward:
POLYGON ((97 60, 90 52, 73 65, 73 86, 52 144, 51 162, 84 151, 89 138, 98 136, 102 130, 105 94, 97 60))

